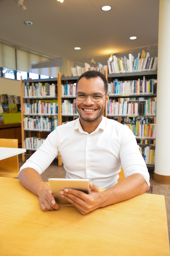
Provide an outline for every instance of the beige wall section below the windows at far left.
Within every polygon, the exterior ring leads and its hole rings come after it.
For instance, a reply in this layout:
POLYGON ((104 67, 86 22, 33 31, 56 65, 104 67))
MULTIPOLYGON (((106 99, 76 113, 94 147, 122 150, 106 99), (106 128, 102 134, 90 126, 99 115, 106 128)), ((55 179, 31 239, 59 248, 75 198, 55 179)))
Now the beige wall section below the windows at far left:
POLYGON ((0 77, 0 94, 20 96, 20 81, 0 77))

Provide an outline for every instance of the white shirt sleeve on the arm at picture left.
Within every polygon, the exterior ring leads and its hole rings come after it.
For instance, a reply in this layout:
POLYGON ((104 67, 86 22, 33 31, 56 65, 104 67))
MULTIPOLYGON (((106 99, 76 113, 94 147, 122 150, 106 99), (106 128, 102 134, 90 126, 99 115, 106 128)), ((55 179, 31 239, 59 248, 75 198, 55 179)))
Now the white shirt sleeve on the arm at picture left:
POLYGON ((44 143, 38 148, 29 159, 21 166, 19 173, 24 168, 33 168, 40 175, 49 167, 55 157, 58 156, 58 134, 55 129, 52 131, 44 143))

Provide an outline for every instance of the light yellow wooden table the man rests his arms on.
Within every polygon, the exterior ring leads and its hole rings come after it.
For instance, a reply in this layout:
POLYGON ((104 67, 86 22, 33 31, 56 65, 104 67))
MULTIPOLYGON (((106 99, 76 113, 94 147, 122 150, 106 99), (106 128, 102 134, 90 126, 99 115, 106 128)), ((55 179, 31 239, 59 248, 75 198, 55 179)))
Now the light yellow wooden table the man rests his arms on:
POLYGON ((143 194, 82 215, 43 212, 18 179, 0 177, 2 256, 169 256, 163 195, 143 194))

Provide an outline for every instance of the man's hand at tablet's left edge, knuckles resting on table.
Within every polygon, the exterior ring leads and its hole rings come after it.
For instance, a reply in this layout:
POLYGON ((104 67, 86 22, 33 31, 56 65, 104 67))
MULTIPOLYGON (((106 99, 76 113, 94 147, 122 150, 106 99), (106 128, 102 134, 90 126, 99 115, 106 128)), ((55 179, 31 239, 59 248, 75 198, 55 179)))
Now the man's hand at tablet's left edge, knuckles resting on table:
POLYGON ((58 210, 60 206, 55 202, 55 199, 51 193, 50 187, 46 184, 46 188, 43 188, 39 193, 39 204, 42 211, 58 210))

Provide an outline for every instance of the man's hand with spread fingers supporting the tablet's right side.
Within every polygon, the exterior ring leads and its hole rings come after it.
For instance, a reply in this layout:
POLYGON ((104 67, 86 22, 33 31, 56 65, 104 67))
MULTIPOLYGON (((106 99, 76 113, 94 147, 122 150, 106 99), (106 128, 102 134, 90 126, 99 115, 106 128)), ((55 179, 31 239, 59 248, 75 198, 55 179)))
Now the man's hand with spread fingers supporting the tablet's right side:
POLYGON ((89 194, 76 189, 64 189, 60 191, 60 195, 73 204, 82 214, 87 214, 99 208, 102 198, 102 192, 99 192, 97 185, 90 183, 89 187, 89 194))

